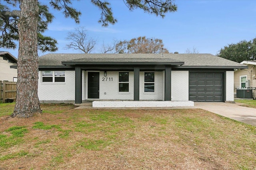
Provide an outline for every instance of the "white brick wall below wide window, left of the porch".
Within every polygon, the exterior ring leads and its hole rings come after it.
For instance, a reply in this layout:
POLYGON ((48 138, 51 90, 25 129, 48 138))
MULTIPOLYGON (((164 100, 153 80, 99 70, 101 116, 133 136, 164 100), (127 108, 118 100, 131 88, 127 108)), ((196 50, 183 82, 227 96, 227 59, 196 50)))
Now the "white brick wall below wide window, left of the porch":
POLYGON ((38 98, 44 101, 72 101, 75 100, 75 71, 65 71, 65 82, 42 82, 39 71, 38 98))

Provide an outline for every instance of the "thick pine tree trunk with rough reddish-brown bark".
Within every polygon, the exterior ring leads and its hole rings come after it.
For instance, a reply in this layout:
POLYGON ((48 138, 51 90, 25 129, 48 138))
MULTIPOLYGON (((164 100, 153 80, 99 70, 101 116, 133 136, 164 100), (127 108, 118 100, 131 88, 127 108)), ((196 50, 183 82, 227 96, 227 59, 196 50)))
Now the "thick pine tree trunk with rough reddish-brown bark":
POLYGON ((12 117, 42 113, 38 99, 38 1, 20 0, 17 97, 12 117))

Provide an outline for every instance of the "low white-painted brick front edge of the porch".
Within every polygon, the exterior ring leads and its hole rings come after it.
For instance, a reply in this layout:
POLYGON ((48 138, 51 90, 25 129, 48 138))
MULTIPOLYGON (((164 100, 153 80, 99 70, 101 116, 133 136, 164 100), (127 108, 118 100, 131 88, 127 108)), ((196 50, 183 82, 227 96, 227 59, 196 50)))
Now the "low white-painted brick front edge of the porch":
POLYGON ((188 107, 192 101, 94 101, 92 107, 188 107))

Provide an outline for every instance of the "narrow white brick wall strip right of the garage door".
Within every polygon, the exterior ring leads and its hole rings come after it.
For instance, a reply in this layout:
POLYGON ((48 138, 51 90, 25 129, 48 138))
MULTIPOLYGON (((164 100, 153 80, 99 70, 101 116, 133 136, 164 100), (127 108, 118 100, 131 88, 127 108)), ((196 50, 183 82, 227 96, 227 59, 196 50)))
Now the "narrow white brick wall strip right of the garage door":
POLYGON ((234 71, 226 71, 226 101, 234 101, 234 71))

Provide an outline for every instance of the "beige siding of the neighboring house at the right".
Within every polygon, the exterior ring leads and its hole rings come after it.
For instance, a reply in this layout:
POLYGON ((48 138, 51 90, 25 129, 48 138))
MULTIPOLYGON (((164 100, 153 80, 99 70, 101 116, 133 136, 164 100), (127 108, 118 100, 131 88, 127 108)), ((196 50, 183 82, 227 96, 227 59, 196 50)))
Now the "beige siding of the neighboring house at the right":
MULTIPOLYGON (((240 76, 247 76, 247 80, 250 80, 250 87, 256 88, 256 66, 248 65, 248 69, 236 70, 234 72, 234 93, 236 94, 236 89, 240 88, 240 76)), ((235 95, 236 96, 236 95, 235 95)), ((252 90, 252 96, 256 96, 256 90, 252 90)))

